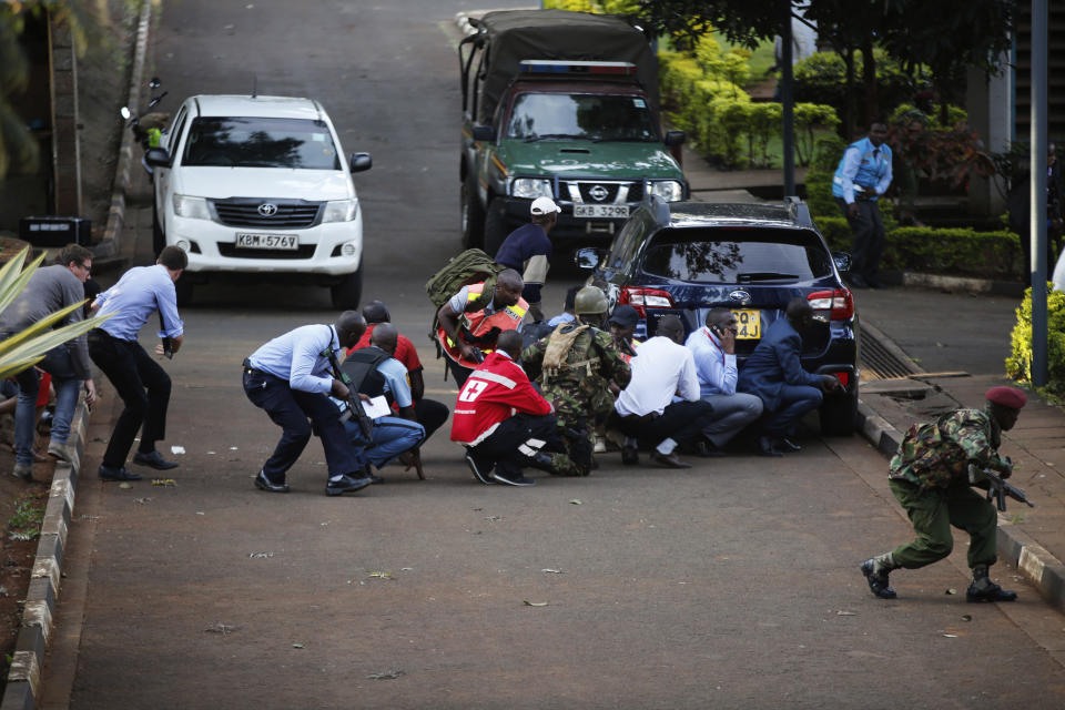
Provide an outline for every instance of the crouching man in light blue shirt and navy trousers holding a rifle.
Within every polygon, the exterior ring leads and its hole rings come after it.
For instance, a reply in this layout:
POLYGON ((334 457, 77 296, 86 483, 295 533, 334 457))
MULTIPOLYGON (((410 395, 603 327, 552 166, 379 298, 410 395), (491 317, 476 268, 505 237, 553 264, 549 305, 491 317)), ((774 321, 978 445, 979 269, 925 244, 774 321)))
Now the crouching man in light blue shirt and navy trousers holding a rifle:
POLYGON ((304 325, 261 346, 244 361, 244 393, 281 427, 281 440, 255 477, 255 486, 288 493, 285 474, 316 433, 325 449, 325 495, 338 496, 371 484, 365 462, 352 447, 341 410, 329 399, 347 399, 347 386, 334 377, 332 359, 358 342, 366 321, 345 311, 335 325, 304 325), (307 419, 311 419, 308 423, 307 419))

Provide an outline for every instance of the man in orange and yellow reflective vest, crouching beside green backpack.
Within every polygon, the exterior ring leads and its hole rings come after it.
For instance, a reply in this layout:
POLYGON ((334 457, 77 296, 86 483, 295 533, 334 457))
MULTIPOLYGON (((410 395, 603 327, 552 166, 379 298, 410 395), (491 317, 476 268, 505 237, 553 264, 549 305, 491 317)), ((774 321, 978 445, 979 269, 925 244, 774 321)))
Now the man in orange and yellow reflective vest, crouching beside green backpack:
POLYGON ((496 338, 506 331, 521 332, 529 310, 521 297, 521 274, 507 268, 499 272, 496 286, 485 293, 484 282, 463 286, 439 312, 436 338, 447 355, 447 367, 462 387, 469 373, 496 347, 496 338))

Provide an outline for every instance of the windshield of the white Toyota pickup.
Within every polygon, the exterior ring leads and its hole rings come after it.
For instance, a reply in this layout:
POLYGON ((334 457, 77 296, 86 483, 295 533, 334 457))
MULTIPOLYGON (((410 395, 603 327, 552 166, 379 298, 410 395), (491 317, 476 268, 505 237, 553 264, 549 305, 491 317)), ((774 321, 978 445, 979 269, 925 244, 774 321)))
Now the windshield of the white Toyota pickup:
POLYGON ((182 164, 341 169, 328 126, 311 119, 195 119, 182 164))

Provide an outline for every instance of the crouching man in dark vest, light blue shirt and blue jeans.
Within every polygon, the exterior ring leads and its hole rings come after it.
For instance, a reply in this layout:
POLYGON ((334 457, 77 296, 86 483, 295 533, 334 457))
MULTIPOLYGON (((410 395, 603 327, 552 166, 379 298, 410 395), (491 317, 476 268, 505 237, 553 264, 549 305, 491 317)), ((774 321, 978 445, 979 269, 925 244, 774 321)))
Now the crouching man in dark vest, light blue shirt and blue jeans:
MULTIPOLYGON (((353 351, 341 366, 352 378, 352 384, 367 397, 385 397, 389 405, 399 408, 399 416, 378 416, 374 419, 373 440, 367 442, 363 430, 354 418, 345 419, 344 429, 355 446, 366 447, 369 463, 384 468, 397 456, 410 452, 409 465, 414 466, 418 477, 425 478, 417 447, 425 439, 425 428, 418 424, 414 412, 414 399, 407 384, 407 368, 393 357, 398 344, 399 332, 390 323, 378 324, 371 336, 371 346, 353 351)), ((343 407, 347 404, 343 403, 343 407)), ((374 483, 381 483, 379 476, 371 476, 374 483)))

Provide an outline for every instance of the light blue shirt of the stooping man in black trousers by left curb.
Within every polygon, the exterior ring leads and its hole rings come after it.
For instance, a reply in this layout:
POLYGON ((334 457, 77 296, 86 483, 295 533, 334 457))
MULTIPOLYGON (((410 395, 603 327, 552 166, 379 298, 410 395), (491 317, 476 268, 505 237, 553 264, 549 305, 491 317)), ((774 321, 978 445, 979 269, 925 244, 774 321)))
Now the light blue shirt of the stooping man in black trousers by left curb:
POLYGON ((178 315, 178 292, 162 264, 131 268, 122 274, 119 283, 97 296, 97 302, 102 304, 97 315, 114 314, 100 327, 120 341, 135 341, 148 316, 156 310, 163 320, 159 337, 178 337, 184 333, 178 315))

